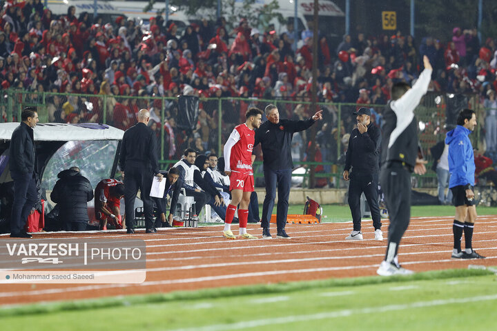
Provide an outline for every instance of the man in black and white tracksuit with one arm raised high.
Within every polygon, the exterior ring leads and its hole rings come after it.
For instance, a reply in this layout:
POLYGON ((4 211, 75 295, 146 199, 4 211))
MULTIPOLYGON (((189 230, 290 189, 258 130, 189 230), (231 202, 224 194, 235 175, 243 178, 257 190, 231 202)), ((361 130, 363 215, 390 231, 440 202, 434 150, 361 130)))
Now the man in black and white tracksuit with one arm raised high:
POLYGON ((387 201, 390 216, 387 252, 380 268, 381 276, 412 274, 400 267, 398 247, 411 217, 411 173, 425 174, 425 161, 418 143, 418 121, 414 110, 428 90, 431 64, 423 57, 425 70, 411 88, 398 82, 391 88, 391 101, 384 110, 382 137, 382 166, 380 184, 387 201))

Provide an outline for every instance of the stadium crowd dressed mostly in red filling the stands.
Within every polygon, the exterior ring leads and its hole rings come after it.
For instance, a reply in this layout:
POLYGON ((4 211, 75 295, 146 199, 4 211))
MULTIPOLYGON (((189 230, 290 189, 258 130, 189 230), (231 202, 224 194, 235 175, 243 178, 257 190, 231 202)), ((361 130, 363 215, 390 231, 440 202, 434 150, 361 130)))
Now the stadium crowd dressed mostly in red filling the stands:
MULTIPOLYGON (((497 90, 496 45, 492 38, 480 42, 476 29, 454 28, 451 40, 424 37, 418 41, 400 32, 392 36, 358 33, 344 36, 338 48, 320 36, 318 54, 312 52, 311 36, 309 30, 298 36, 291 25, 282 34, 271 28, 259 31, 246 19, 234 29, 228 28, 223 18, 215 23, 206 19, 191 23, 179 35, 177 26, 164 25, 161 16, 150 17, 147 25, 125 17, 113 22, 99 17, 90 21, 88 12, 76 17, 73 6, 66 15, 55 17, 40 0, 5 2, 0 14, 1 89, 2 94, 8 88, 33 92, 31 101, 39 98, 35 92, 68 93, 48 98, 48 119, 56 122, 102 121, 105 100, 107 122, 126 130, 135 123, 139 109, 151 108, 150 126, 157 130, 161 120, 154 108, 161 108, 162 101, 126 97, 184 94, 310 101, 311 67, 316 56, 320 101, 384 105, 393 83, 411 83, 418 78, 423 69, 420 59, 427 55, 433 63, 429 90, 477 93, 482 104, 491 98, 487 105, 497 107, 488 92, 497 90), (292 48, 295 38, 302 39, 296 51, 292 48)), ((309 106, 282 105, 283 118, 305 118, 314 113, 309 106)), ((217 123, 217 103, 201 104, 197 130, 188 139, 176 128, 175 101, 165 106, 168 158, 179 157, 186 147, 199 152, 213 148, 211 142, 217 139, 209 130, 217 123)), ((224 116, 224 121, 234 125, 240 123, 240 114, 249 104, 240 102, 227 110, 224 106, 224 112, 233 113, 224 116)), ((342 119, 339 137, 355 124, 349 111, 342 119)), ((336 134, 331 126, 328 129, 336 134)), ((226 137, 229 132, 231 128, 226 130, 226 137)), ((495 154, 497 138, 490 139, 487 146, 495 154)), ((305 150, 306 145, 302 147, 305 150)))

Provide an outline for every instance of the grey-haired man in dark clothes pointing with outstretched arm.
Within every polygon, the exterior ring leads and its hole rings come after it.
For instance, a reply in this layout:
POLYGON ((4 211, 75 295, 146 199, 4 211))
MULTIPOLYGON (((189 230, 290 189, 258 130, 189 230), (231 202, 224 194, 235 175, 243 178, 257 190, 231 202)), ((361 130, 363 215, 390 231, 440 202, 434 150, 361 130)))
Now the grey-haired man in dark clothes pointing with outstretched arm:
POLYGON ((271 238, 269 221, 273 213, 278 191, 276 210, 276 226, 278 238, 290 238, 286 234, 286 215, 288 214, 288 200, 291 188, 291 171, 293 161, 291 158, 291 140, 293 133, 310 128, 315 121, 322 119, 322 110, 316 112, 306 121, 291 121, 281 119, 275 105, 266 106, 264 110, 268 121, 262 123, 255 131, 254 147, 261 144, 264 159, 264 180, 266 181, 266 197, 262 208, 262 237, 271 238))

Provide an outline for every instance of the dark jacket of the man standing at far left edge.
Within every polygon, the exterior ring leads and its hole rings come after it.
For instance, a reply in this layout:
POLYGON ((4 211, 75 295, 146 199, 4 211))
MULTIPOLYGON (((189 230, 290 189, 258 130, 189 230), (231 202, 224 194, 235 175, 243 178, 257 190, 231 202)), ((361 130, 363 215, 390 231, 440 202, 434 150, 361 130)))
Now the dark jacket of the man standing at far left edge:
POLYGON ((24 122, 12 132, 9 165, 10 171, 35 172, 35 139, 32 128, 24 122))

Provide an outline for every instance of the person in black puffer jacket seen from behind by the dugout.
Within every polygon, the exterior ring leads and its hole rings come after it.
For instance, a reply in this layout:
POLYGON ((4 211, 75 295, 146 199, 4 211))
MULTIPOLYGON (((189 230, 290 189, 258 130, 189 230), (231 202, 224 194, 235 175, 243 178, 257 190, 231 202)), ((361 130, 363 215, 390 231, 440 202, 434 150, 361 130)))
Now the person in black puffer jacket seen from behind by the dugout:
POLYGON ((50 193, 50 198, 59 203, 59 219, 66 231, 84 231, 88 224, 88 204, 93 199, 90 181, 79 172, 78 167, 57 174, 59 180, 50 193))

